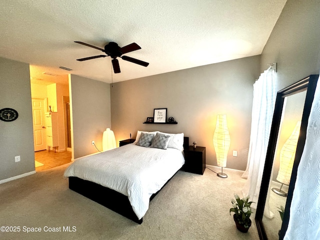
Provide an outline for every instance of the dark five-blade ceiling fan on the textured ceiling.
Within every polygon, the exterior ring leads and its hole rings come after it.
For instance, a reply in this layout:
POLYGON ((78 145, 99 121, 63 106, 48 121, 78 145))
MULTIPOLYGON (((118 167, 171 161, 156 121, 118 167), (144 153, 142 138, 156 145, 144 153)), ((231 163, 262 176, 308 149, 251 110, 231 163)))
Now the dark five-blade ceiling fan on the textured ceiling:
POLYGON ((92 46, 92 45, 90 45, 88 43, 85 43, 85 42, 82 42, 82 41, 74 41, 74 42, 82 44, 82 45, 85 45, 85 46, 93 47, 93 48, 98 49, 100 51, 103 51, 103 52, 105 52, 107 54, 107 55, 89 56, 89 57, 79 58, 79 59, 76 59, 76 60, 85 61, 85 60, 89 60, 89 59, 93 59, 93 58, 110 56, 112 58, 111 62, 112 62, 114 73, 119 73, 120 72, 119 61, 118 61, 118 59, 116 59, 117 57, 121 57, 122 60, 130 61, 130 62, 133 62, 135 64, 139 64, 141 66, 149 65, 148 62, 141 61, 139 59, 135 59, 135 58, 129 57, 129 56, 122 56, 122 54, 125 54, 127 52, 141 49, 141 47, 138 44, 136 44, 135 42, 133 42, 131 44, 128 44, 126 46, 119 47, 117 43, 115 43, 113 41, 110 41, 108 44, 106 44, 104 46, 104 49, 102 49, 100 47, 97 47, 97 46, 92 46))

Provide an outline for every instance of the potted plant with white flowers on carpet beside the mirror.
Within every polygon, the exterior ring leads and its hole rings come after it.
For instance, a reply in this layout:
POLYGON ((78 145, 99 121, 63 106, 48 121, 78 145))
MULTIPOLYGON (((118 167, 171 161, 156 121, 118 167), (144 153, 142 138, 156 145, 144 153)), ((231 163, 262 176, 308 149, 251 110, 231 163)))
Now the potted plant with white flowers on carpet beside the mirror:
POLYGON ((239 231, 247 232, 249 227, 251 226, 250 215, 252 211, 250 205, 253 201, 248 201, 249 196, 245 196, 242 199, 240 199, 240 197, 237 194, 234 194, 234 198, 235 200, 233 198, 231 199, 233 207, 230 208, 229 213, 231 215, 231 211, 234 212, 233 219, 236 228, 239 231))

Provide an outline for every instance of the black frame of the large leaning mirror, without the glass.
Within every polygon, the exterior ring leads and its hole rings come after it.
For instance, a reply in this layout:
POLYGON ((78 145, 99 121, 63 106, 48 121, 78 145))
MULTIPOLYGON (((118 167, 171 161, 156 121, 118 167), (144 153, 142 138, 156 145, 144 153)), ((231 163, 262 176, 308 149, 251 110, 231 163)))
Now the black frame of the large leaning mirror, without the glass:
POLYGON ((285 202, 282 225, 279 232, 280 240, 283 239, 289 223, 290 205, 291 205, 291 200, 293 195, 294 184, 296 180, 296 173, 297 173, 297 168, 302 155, 302 151, 304 148, 306 128, 308 124, 308 118, 311 110, 311 105, 312 105, 318 77, 319 77, 318 74, 309 75, 293 83, 292 85, 289 85, 279 90, 276 94, 274 112, 273 112, 271 129, 270 129, 269 143, 266 151, 259 198, 258 198, 256 213, 255 213, 255 222, 256 222, 256 227, 257 227, 260 239, 263 239, 263 240, 267 239, 266 232, 262 223, 262 217, 263 217, 266 195, 269 187, 269 179, 271 176, 271 170, 272 170, 273 159, 274 159, 274 154, 275 154, 275 149, 277 144, 278 132, 280 128, 284 98, 286 96, 306 90, 306 96, 305 96, 302 118, 301 118, 300 134, 299 134, 299 138, 296 146, 295 158, 293 162, 290 184, 289 184, 287 198, 285 202))

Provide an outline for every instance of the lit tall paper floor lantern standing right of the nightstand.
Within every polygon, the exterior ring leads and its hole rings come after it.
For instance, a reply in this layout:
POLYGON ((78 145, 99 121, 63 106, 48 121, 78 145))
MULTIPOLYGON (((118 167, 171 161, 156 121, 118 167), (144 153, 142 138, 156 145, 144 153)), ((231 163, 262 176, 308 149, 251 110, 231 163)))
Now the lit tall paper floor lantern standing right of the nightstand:
POLYGON ((226 178, 227 174, 223 173, 223 167, 226 166, 226 157, 230 147, 230 135, 226 124, 226 114, 216 115, 215 130, 213 133, 213 146, 216 154, 217 165, 221 167, 221 172, 217 176, 226 178))

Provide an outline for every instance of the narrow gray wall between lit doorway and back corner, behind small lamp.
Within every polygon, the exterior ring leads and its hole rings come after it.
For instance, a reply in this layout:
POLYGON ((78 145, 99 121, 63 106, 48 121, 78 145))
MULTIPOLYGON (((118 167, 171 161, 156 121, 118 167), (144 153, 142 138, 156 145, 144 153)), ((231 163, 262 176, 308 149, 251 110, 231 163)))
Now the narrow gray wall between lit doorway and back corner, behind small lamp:
POLYGON ((71 74, 69 87, 73 128, 72 157, 77 158, 97 152, 91 145, 91 140, 102 150, 102 133, 107 127, 111 127, 110 84, 71 74))

